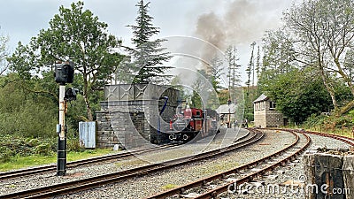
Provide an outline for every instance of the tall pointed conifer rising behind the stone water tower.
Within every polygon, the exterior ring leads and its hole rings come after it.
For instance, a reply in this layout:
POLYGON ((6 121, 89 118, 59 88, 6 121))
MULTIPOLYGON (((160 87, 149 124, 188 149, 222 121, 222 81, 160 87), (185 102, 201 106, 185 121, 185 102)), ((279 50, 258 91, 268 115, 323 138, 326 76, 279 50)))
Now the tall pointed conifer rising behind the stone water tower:
MULTIPOLYGON (((134 73, 133 83, 161 82, 169 75, 164 75, 165 71, 170 69, 169 66, 163 64, 172 57, 170 53, 162 47, 163 39, 151 41, 151 37, 159 33, 158 27, 153 27, 152 19, 149 15, 149 3, 145 4, 140 0, 138 7, 138 15, 135 19, 136 25, 131 25, 133 30, 132 42, 135 48, 127 48, 133 65, 127 73, 134 73)), ((126 66, 127 68, 127 66, 126 66)))

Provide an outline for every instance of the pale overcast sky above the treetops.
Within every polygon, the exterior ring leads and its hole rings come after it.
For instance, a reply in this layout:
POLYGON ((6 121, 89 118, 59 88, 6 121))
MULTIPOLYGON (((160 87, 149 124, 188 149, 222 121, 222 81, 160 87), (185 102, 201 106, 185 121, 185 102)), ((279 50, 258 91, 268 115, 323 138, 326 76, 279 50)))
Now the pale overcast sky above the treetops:
MULTIPOLYGON (((71 0, 0 0, 0 34, 9 35, 9 49, 17 42, 27 44, 58 13, 60 5, 69 7, 71 0)), ((111 34, 128 45, 135 24, 137 0, 85 0, 111 34)), ((240 63, 250 60, 250 43, 260 44, 266 29, 280 27, 281 12, 290 7, 289 0, 151 0, 153 24, 161 28, 159 36, 196 36, 211 40, 221 50, 235 45, 240 63), (219 37, 219 34, 221 36, 219 37), (215 39, 216 38, 216 39, 215 39)))

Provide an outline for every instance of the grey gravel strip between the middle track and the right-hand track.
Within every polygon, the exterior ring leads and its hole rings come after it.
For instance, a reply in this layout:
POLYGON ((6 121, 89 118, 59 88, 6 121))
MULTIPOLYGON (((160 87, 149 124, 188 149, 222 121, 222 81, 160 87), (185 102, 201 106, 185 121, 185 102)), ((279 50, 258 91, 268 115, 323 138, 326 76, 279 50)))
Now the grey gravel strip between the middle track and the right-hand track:
POLYGON ((245 149, 202 162, 179 166, 164 172, 153 173, 141 178, 125 180, 103 188, 95 188, 74 195, 65 195, 63 198, 143 198, 165 191, 167 188, 175 188, 266 157, 289 146, 294 141, 295 136, 288 132, 273 133, 267 131, 263 141, 245 149), (276 142, 279 139, 281 139, 281 143, 276 142))

